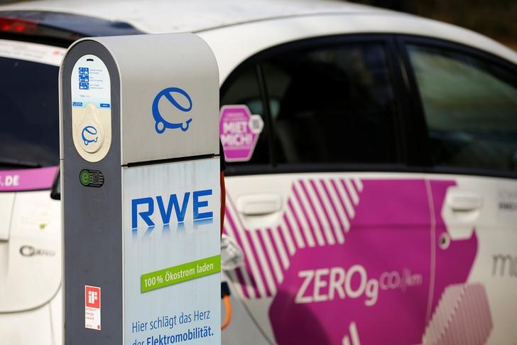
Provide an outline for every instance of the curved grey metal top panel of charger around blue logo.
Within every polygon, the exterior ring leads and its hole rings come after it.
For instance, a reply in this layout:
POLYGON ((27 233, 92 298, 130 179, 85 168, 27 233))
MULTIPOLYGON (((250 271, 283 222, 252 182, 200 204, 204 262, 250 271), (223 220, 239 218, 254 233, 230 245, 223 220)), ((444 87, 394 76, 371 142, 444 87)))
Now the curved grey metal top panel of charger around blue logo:
POLYGON ((178 33, 94 39, 116 58, 121 75, 123 165, 219 154, 219 71, 202 38, 178 33), (186 132, 179 128, 156 132, 153 100, 168 87, 180 87, 192 99, 187 113, 160 103, 169 122, 192 118, 186 132))

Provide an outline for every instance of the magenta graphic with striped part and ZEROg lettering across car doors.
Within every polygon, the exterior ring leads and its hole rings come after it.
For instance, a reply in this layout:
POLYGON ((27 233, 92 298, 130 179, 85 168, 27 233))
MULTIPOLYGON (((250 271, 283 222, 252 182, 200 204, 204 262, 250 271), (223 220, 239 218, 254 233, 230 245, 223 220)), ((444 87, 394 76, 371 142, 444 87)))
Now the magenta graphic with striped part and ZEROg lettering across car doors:
POLYGON ((440 247, 454 185, 300 179, 281 223, 255 230, 229 199, 225 231, 246 253, 235 272, 241 295, 273 297, 278 344, 420 344, 445 288, 467 281, 477 253, 475 231, 440 247))

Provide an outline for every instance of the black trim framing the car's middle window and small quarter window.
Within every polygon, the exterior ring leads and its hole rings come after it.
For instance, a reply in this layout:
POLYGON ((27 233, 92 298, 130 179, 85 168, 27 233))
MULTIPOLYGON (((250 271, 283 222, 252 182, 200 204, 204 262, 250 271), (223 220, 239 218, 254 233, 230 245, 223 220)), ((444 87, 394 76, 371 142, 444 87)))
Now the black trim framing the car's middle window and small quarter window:
POLYGON ((244 60, 239 66, 237 66, 232 73, 229 74, 224 83, 222 83, 220 89, 220 98, 227 92, 229 86, 232 85, 234 80, 238 78, 242 70, 246 68, 254 67, 257 73, 258 88, 261 92, 261 102, 264 110, 264 116, 266 117, 266 123, 271 124, 271 110, 269 104, 266 102, 268 99, 268 90, 266 83, 263 79, 263 72, 261 68, 261 62, 270 58, 274 55, 278 55, 285 51, 291 50, 303 50, 303 49, 314 49, 317 47, 328 47, 335 46, 342 43, 380 43, 386 48, 386 64, 388 68, 388 75, 393 86, 393 98, 395 102, 395 124, 394 129, 396 132, 396 163, 387 164, 277 164, 276 156, 274 152, 274 129, 271 125, 268 127, 268 145, 270 152, 269 164, 261 165, 241 165, 232 166, 227 165, 227 169, 224 174, 226 176, 239 176, 239 175, 252 175, 252 174, 283 174, 283 173, 303 173, 303 172, 327 172, 327 171, 405 171, 407 169, 407 147, 411 147, 410 143, 407 142, 406 132, 407 128, 404 124, 404 114, 407 113, 406 102, 404 100, 404 94, 402 91, 403 78, 401 76, 401 64, 398 63, 398 50, 396 48, 396 40, 393 35, 388 33, 353 33, 353 34, 338 34, 329 36, 318 36, 312 38, 304 38, 298 41, 291 41, 283 43, 278 46, 266 48, 264 51, 252 55, 250 58, 244 60), (273 132, 270 132, 273 131, 273 132))

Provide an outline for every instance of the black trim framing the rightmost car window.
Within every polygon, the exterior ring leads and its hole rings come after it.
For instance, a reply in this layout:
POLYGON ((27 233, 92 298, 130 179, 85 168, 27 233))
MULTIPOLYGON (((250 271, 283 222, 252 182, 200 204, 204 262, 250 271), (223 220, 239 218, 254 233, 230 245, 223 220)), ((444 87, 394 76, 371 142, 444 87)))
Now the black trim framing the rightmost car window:
MULTIPOLYGON (((418 45, 428 48, 444 48, 448 51, 455 53, 461 53, 467 56, 472 56, 477 60, 484 61, 489 65, 496 64, 506 70, 511 70, 517 75, 517 66, 510 61, 501 58, 498 55, 494 55, 487 51, 482 51, 479 48, 472 46, 466 46, 462 43, 453 41, 446 41, 441 38, 432 38, 427 36, 418 35, 396 35, 396 45, 398 48, 398 54, 401 56, 403 63, 402 68, 406 70, 407 92, 410 97, 410 107, 413 110, 413 119, 416 121, 413 124, 413 143, 419 147, 416 152, 417 156, 412 156, 409 159, 410 171, 422 172, 427 174, 455 174, 465 176, 486 176, 486 177, 500 177, 506 179, 517 179, 517 171, 501 171, 501 170, 489 170, 479 168, 465 168, 465 167, 452 167, 452 166, 435 166, 432 164, 432 158, 430 154, 430 144, 428 138, 428 127, 425 120, 425 114, 423 110, 422 99, 420 97, 420 91, 416 82, 415 73, 413 66, 410 63, 408 45, 418 45)), ((415 152, 413 152, 415 154, 415 152)))

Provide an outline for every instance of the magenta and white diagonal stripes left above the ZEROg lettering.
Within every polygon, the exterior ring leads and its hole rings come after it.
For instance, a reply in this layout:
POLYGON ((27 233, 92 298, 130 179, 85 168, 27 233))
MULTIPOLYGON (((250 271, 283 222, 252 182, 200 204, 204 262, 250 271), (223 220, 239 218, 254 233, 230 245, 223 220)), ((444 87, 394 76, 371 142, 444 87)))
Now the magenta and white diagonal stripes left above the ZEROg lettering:
POLYGON ((359 179, 295 180, 280 221, 267 228, 246 228, 227 193, 223 232, 245 255, 244 266, 231 272, 241 297, 273 297, 298 250, 344 243, 362 189, 359 179))

